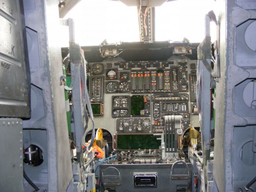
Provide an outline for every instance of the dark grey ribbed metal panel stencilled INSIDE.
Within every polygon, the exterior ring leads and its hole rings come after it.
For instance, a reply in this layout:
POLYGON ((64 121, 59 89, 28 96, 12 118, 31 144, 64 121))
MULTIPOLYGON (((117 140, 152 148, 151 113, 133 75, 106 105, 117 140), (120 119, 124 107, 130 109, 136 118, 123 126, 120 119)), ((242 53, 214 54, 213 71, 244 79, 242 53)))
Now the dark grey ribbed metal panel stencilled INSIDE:
POLYGON ((30 72, 22 14, 19 0, 1 1, 0 116, 4 117, 30 117, 30 72))

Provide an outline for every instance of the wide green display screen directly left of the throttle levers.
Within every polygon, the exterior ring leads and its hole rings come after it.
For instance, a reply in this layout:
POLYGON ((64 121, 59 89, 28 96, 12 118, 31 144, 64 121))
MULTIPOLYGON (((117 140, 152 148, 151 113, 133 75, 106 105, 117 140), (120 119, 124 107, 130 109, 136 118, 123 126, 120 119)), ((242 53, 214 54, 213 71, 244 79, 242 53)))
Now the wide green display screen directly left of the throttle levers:
POLYGON ((152 134, 118 134, 117 148, 119 150, 144 150, 158 149, 161 145, 160 140, 156 140, 156 136, 152 134))

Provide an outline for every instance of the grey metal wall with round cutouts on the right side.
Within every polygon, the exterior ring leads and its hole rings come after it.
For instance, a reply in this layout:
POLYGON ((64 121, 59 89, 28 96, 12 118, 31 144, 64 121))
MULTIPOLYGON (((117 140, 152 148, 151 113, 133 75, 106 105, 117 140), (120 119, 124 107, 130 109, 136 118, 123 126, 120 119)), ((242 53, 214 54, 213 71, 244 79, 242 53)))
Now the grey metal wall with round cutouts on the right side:
MULTIPOLYGON (((250 32, 248 26, 256 20, 256 2, 219 0, 218 3, 220 78, 216 83, 213 175, 220 192, 237 192, 256 172, 252 81, 256 78, 256 52, 255 48, 250 49, 247 39, 255 42, 256 27, 251 26, 254 32, 250 32)), ((255 191, 255 186, 252 189, 255 191)))

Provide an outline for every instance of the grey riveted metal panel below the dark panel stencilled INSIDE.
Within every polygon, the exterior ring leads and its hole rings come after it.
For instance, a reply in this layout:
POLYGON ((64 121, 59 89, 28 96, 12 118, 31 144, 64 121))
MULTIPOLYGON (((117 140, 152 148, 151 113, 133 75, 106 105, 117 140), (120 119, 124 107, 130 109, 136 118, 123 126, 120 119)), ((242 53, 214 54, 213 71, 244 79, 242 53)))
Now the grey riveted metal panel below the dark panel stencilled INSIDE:
POLYGON ((0 118, 0 191, 23 192, 22 120, 0 118))

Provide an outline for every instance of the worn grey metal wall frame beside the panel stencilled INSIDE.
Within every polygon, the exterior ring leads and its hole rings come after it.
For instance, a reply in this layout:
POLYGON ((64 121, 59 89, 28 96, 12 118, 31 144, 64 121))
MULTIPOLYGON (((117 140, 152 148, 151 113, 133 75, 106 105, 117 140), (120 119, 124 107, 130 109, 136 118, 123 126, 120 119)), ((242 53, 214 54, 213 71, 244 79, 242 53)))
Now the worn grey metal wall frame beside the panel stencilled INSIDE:
MULTIPOLYGON (((72 180, 72 164, 66 119, 61 50, 58 47, 58 0, 24 0, 31 71, 30 120, 23 122, 24 146, 39 146, 44 162, 25 165, 38 187, 66 191, 72 180)), ((26 184, 26 182, 25 182, 26 184)), ((25 190, 30 186, 25 185, 25 190)))

